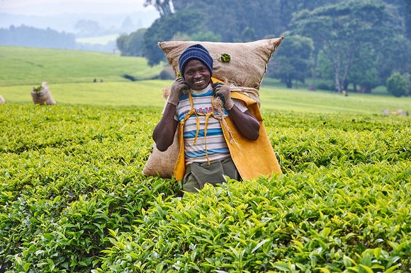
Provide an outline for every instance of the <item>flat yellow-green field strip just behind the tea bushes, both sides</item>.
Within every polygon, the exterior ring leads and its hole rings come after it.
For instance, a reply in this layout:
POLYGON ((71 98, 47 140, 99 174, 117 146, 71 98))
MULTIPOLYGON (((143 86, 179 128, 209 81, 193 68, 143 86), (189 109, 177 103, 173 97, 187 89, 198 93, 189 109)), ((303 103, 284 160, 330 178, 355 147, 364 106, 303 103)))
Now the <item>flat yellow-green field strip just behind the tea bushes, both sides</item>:
MULTIPOLYGON (((49 84, 59 105, 110 105, 161 108, 162 88, 172 81, 104 81, 103 83, 49 84)), ((36 83, 33 86, 38 86, 36 83)), ((0 86, 0 94, 9 103, 33 103, 30 85, 0 86)), ((411 97, 350 93, 345 97, 329 91, 303 91, 288 88, 260 89, 261 110, 295 112, 347 112, 381 114, 384 109, 411 112, 411 97)))

